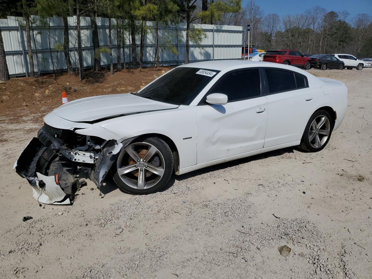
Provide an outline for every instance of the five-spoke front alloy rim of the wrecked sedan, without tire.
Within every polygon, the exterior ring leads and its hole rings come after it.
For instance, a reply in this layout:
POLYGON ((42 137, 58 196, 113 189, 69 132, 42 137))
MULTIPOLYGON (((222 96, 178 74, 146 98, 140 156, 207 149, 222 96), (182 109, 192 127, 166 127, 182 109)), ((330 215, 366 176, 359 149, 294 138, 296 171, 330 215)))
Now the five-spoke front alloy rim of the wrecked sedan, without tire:
POLYGON ((116 169, 120 179, 134 189, 155 186, 164 175, 165 161, 161 152, 147 142, 135 142, 119 154, 116 169))

